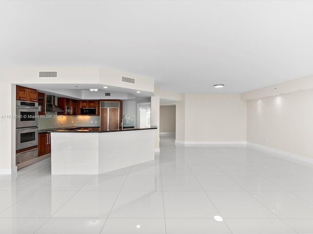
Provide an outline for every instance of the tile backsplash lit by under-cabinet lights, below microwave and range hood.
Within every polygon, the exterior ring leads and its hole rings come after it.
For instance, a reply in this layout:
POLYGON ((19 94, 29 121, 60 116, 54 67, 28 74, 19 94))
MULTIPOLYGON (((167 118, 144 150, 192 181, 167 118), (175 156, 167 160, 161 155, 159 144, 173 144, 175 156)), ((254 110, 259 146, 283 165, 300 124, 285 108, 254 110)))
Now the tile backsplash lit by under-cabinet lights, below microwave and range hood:
POLYGON ((38 119, 38 129, 66 128, 71 126, 99 127, 99 116, 58 116, 56 112, 46 112, 38 119), (92 121, 92 123, 91 123, 92 121))

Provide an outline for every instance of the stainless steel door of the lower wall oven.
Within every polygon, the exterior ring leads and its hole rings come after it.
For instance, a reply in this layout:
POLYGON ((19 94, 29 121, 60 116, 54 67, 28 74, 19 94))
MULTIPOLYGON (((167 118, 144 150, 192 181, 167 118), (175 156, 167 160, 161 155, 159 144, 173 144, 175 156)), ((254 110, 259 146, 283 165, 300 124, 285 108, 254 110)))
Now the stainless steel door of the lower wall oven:
POLYGON ((38 127, 16 129, 16 150, 38 145, 38 127))

